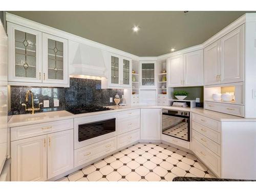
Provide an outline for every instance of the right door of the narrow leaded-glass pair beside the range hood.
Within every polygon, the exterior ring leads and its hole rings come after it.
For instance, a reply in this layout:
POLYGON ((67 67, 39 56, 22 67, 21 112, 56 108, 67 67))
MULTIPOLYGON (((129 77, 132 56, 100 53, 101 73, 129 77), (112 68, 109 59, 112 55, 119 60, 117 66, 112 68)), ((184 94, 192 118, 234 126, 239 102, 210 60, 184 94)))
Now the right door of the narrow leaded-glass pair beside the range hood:
POLYGON ((122 81, 123 87, 132 86, 132 59, 122 57, 122 81))

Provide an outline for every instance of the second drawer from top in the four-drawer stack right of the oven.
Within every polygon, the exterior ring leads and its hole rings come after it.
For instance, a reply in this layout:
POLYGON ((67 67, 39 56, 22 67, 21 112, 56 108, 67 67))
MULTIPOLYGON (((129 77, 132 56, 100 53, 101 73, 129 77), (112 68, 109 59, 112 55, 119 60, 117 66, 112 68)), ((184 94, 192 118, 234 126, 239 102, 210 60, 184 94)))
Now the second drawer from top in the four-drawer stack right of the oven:
POLYGON ((209 129, 207 126, 201 125, 195 121, 192 121, 192 130, 197 131, 205 137, 215 141, 216 143, 221 143, 221 134, 212 129, 209 129))

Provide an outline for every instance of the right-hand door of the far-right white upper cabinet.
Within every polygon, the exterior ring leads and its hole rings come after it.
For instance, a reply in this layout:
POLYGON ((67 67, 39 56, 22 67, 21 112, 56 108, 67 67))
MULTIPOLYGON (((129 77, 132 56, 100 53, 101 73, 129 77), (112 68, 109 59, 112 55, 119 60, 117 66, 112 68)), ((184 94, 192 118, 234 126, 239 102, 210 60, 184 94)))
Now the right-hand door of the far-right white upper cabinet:
POLYGON ((244 25, 225 35, 221 45, 221 83, 243 81, 244 25))

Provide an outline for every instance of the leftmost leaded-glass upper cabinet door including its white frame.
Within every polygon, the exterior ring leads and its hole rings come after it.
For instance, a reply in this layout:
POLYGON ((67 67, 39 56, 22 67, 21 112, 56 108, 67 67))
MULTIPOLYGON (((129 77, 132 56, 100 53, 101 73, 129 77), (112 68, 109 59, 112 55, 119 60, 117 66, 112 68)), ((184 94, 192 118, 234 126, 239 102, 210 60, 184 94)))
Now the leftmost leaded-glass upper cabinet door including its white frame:
POLYGON ((42 82, 41 32, 7 23, 8 81, 42 82))

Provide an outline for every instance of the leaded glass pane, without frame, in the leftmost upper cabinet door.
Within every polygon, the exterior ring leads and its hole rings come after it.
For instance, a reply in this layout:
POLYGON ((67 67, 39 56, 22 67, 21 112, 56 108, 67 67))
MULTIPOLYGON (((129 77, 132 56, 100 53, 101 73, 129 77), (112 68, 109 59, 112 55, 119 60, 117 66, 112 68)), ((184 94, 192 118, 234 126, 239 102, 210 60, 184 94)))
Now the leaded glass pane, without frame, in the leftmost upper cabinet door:
POLYGON ((16 29, 15 76, 36 77, 36 36, 16 29))

